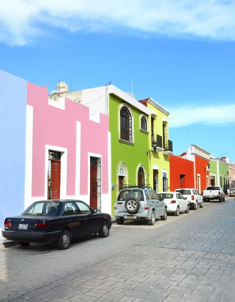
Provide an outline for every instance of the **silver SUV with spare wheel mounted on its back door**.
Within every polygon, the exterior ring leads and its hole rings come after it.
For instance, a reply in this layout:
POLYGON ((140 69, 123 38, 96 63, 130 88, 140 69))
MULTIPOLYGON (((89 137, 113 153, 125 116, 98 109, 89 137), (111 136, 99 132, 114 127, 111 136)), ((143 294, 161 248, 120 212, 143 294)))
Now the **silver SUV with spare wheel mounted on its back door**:
POLYGON ((145 219, 148 225, 153 225, 156 217, 167 220, 167 205, 150 188, 126 187, 118 194, 114 215, 117 224, 127 219, 145 219))

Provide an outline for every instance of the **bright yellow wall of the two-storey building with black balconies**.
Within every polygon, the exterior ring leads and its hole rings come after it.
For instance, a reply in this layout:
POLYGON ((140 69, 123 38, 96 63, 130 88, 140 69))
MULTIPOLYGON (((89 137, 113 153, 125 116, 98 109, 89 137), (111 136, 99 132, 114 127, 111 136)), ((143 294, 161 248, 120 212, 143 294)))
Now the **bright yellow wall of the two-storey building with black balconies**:
MULTIPOLYGON (((152 106, 149 102, 147 104, 147 107, 150 109, 150 111, 153 111, 156 116, 154 118, 154 137, 156 137, 156 134, 159 134, 163 137, 163 118, 168 120, 168 116, 164 114, 159 109, 152 106)), ((167 124, 168 127, 168 139, 169 139, 169 124, 167 124)), ((148 150, 151 148, 151 116, 148 117, 148 150)), ((154 138, 155 139, 155 138, 154 138)), ((159 192, 163 190, 163 172, 167 173, 168 178, 168 187, 170 187, 170 162, 169 162, 169 155, 164 155, 163 152, 157 152, 156 155, 154 154, 154 151, 149 152, 148 154, 149 158, 149 184, 153 188, 153 165, 158 166, 159 169, 159 192), (166 170, 166 171, 162 171, 166 170)))

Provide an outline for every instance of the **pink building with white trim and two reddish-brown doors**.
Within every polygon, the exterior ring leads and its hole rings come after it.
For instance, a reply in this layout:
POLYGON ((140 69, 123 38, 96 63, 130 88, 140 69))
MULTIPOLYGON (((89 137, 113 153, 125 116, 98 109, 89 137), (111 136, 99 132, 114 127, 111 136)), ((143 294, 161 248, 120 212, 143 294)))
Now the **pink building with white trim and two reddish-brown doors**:
POLYGON ((111 213, 109 117, 28 82, 25 207, 41 199, 81 199, 111 213))

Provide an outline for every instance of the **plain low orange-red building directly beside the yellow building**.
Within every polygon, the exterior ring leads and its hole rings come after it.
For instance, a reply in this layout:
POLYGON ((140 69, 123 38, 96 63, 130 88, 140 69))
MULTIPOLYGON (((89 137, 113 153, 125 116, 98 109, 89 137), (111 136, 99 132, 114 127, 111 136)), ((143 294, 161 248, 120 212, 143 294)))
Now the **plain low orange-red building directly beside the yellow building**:
POLYGON ((170 156, 171 191, 194 187, 194 163, 178 156, 170 156))

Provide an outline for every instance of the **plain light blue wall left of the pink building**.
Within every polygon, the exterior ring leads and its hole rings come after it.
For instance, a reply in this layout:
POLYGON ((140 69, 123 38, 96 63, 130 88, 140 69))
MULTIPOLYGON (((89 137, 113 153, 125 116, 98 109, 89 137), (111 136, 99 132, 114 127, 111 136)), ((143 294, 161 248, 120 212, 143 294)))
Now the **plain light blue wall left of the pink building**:
POLYGON ((6 216, 24 210, 27 81, 0 70, 0 83, 0 226, 4 230, 6 216))

